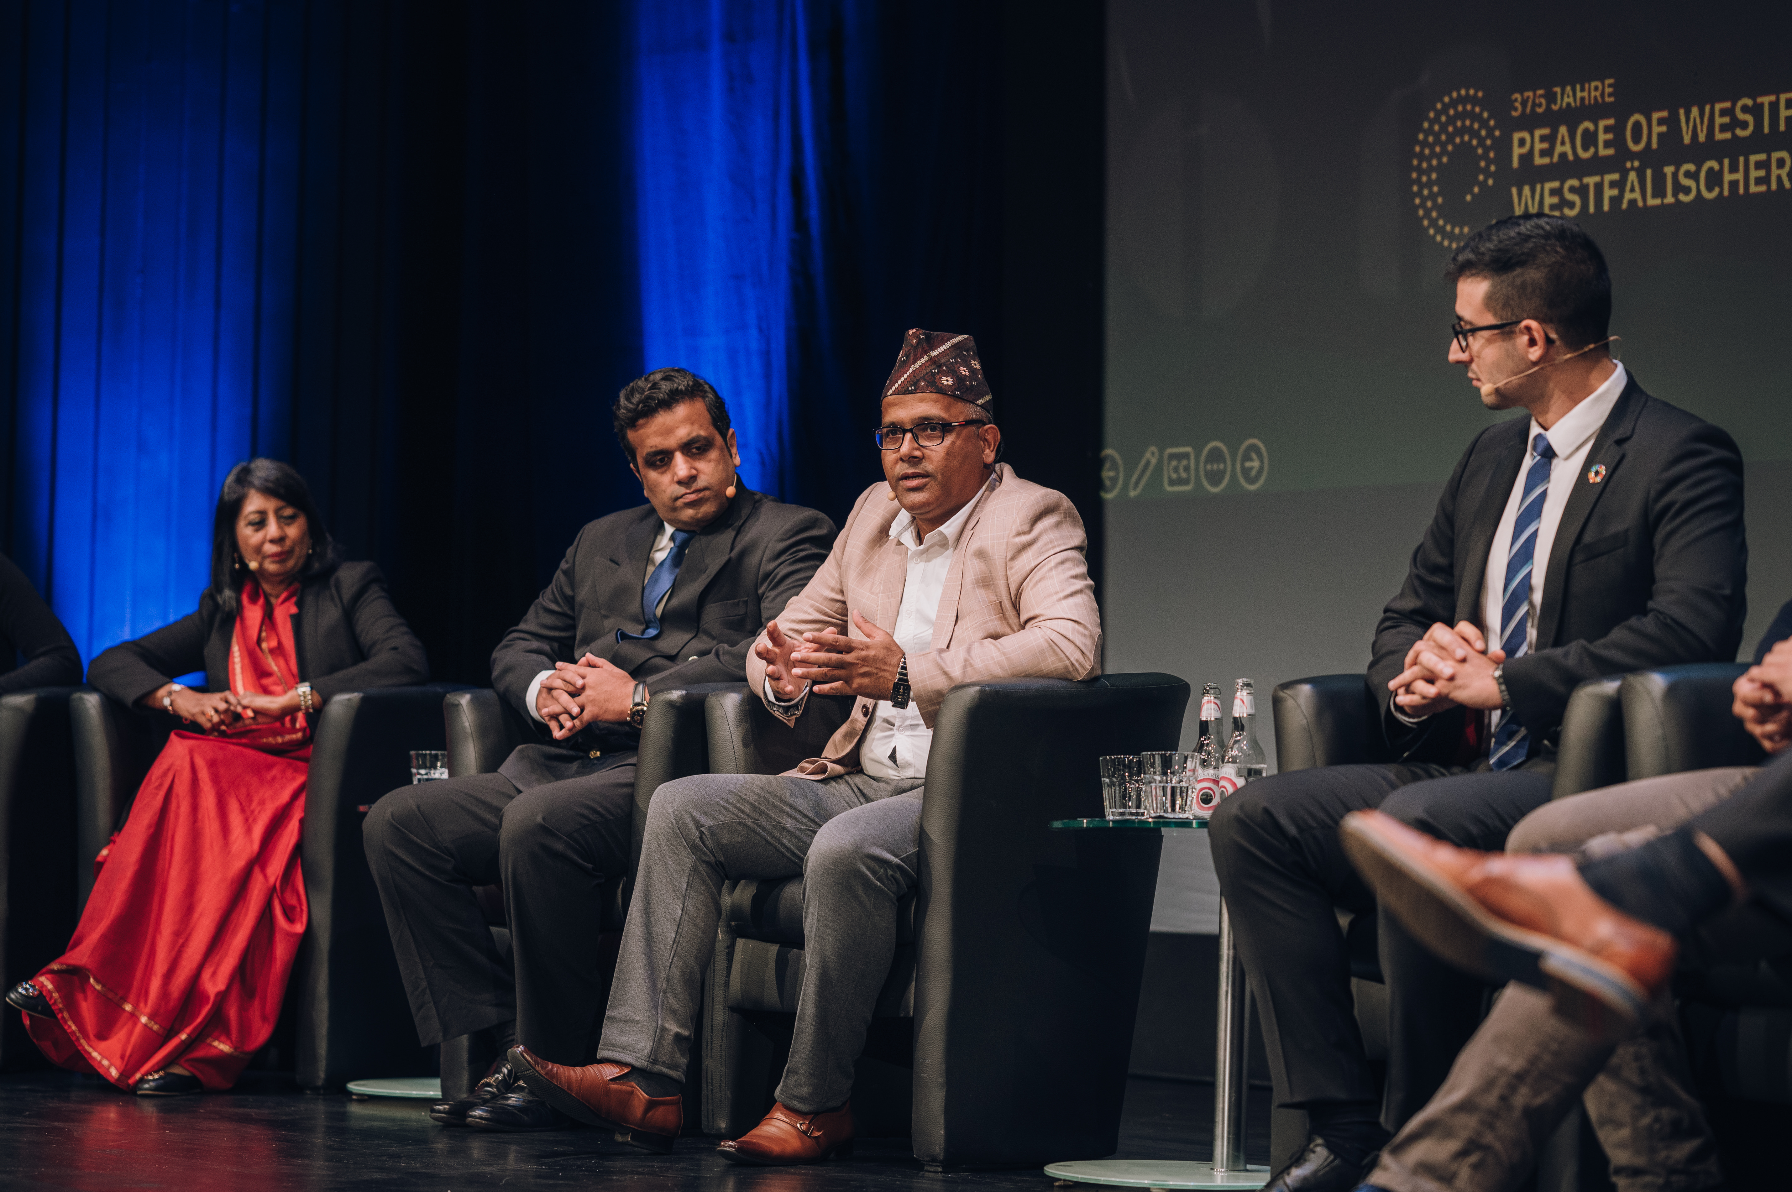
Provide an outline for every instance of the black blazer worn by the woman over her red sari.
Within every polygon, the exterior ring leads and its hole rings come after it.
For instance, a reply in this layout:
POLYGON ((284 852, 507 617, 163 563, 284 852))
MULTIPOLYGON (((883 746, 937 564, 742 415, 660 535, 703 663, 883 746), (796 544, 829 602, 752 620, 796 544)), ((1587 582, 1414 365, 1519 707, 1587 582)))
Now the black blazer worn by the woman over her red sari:
MULTIPOLYGON (((339 563, 299 583, 299 611, 292 642, 299 651, 299 678, 319 703, 340 692, 369 687, 426 683, 423 644, 392 608, 385 577, 373 563, 339 563)), ((229 690, 229 642, 237 618, 226 617, 210 590, 199 611, 134 642, 120 642, 88 667, 88 683, 113 699, 136 706, 168 679, 206 672, 206 690, 229 690)))

